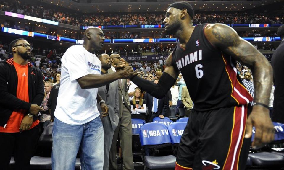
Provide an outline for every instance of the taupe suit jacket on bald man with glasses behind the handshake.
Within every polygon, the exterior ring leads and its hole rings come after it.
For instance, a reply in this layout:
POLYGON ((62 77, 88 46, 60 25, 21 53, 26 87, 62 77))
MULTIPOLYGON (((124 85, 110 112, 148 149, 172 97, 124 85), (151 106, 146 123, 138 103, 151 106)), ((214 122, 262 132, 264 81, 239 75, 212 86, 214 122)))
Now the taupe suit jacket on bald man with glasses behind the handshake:
MULTIPOLYGON (((108 70, 108 73, 113 73, 111 68, 108 70)), ((121 82, 121 79, 117 80, 117 81, 121 82)), ((122 84, 118 83, 118 103, 119 103, 118 117, 119 118, 122 117, 123 102, 124 102, 125 107, 129 110, 129 113, 131 113, 131 108, 129 107, 130 103, 129 103, 129 96, 128 96, 128 89, 127 89, 126 79, 122 79, 122 84), (122 102, 122 98, 123 98, 123 102, 122 102)))

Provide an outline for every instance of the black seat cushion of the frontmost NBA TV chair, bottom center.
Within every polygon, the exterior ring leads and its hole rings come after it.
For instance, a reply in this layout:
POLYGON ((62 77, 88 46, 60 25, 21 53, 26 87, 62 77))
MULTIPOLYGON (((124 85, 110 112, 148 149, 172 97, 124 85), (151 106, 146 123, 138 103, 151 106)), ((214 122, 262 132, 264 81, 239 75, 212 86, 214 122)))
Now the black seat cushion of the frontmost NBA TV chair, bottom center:
POLYGON ((171 170, 175 169, 176 157, 168 156, 145 156, 144 164, 148 169, 153 170, 171 170))

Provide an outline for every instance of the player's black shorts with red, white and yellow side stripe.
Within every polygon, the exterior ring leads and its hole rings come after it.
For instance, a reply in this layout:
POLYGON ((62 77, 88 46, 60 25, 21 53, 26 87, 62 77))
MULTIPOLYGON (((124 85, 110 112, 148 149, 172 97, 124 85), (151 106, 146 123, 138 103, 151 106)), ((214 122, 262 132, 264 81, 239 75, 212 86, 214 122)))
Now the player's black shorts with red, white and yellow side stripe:
POLYGON ((178 148, 175 170, 245 169, 247 107, 193 110, 178 148))

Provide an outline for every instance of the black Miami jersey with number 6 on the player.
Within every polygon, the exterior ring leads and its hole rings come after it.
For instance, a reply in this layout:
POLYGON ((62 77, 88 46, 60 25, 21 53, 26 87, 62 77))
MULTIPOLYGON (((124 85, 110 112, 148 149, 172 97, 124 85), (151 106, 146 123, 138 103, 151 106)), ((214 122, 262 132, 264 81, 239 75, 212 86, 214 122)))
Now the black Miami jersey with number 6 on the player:
POLYGON ((172 65, 182 73, 194 109, 248 104, 252 97, 237 80, 235 61, 207 40, 205 27, 196 25, 185 49, 178 43, 172 53, 172 65))

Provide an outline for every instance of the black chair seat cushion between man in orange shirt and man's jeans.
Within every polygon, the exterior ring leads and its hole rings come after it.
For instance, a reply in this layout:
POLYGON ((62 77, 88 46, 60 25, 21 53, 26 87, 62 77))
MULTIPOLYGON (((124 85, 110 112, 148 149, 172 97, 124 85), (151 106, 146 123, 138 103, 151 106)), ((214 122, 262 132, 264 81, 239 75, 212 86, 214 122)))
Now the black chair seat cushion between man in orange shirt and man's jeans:
POLYGON ((51 158, 33 156, 30 159, 31 169, 51 169, 51 158))

